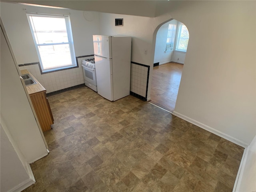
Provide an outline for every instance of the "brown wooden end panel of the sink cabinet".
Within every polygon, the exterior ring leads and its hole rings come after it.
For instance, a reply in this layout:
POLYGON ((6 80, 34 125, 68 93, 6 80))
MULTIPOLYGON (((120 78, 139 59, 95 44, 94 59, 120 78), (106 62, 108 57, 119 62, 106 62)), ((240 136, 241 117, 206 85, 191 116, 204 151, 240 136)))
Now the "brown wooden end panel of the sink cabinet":
POLYGON ((36 116, 39 120, 42 131, 48 131, 53 124, 52 111, 46 97, 46 91, 30 94, 30 99, 36 111, 36 116))

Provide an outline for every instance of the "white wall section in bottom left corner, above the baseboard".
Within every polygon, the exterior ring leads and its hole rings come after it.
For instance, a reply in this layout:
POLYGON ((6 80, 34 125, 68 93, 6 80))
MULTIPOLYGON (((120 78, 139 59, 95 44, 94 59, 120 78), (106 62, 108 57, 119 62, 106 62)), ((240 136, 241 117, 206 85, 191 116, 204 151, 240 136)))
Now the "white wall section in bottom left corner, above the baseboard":
MULTIPOLYGON (((1 122, 2 123, 2 122, 1 122)), ((12 143, 6 135, 6 132, 0 128, 0 146, 1 146, 1 192, 13 191, 18 188, 21 183, 33 183, 26 172, 20 158, 18 157, 12 143)), ((23 190, 24 188, 21 188, 23 190)))

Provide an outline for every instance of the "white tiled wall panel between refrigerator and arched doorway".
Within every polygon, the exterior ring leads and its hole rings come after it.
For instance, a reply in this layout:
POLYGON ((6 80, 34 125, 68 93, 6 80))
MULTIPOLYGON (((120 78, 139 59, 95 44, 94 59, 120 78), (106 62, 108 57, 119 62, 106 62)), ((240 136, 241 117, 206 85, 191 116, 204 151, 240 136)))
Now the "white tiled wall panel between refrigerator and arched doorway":
POLYGON ((146 97, 148 68, 137 64, 131 64, 130 90, 136 94, 146 97))

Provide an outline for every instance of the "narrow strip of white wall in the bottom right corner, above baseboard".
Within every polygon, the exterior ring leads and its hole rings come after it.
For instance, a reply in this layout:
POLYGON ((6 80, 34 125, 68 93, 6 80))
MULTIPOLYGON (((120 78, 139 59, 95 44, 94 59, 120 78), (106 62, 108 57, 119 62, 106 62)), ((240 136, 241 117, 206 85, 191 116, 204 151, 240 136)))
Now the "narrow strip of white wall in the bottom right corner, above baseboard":
POLYGON ((250 146, 247 148, 248 154, 243 162, 244 170, 240 175, 238 192, 252 192, 256 191, 256 136, 252 140, 250 146))

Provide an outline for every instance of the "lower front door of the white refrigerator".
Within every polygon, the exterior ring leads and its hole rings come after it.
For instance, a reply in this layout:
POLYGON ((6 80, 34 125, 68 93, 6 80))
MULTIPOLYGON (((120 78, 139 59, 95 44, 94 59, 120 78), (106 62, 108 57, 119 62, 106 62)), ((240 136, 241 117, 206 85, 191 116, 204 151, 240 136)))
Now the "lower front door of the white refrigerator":
POLYGON ((94 58, 98 94, 110 101, 113 101, 112 59, 106 59, 98 56, 94 56, 94 58))

